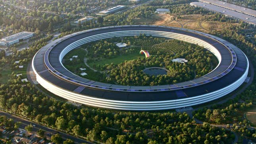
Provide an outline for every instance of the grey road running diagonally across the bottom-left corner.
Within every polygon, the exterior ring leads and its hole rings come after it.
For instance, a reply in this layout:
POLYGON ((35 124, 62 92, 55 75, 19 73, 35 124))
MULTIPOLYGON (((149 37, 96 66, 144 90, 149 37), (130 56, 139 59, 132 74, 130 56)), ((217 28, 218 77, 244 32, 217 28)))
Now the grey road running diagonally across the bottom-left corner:
POLYGON ((60 135, 62 136, 62 138, 63 138, 64 140, 66 140, 66 139, 68 138, 68 139, 71 139, 71 140, 73 140, 74 142, 76 142, 76 143, 78 143, 78 144, 81 144, 81 143, 94 144, 94 143, 89 142, 89 141, 87 141, 87 140, 83 140, 83 139, 81 139, 81 138, 77 138, 77 137, 75 137, 75 136, 71 136, 71 135, 69 135, 69 134, 65 134, 65 133, 63 133, 63 132, 56 131, 56 130, 54 130, 54 129, 50 129, 50 128, 48 128, 48 127, 44 127, 44 126, 42 126, 42 125, 38 125, 37 123, 33 123, 33 122, 31 122, 31 121, 27 121, 27 120, 25 120, 25 119, 16 117, 16 116, 11 115, 11 114, 9 114, 9 113, 6 113, 6 112, 4 112, 4 111, 0 111, 0 115, 5 115, 5 116, 8 117, 9 119, 13 119, 13 121, 15 121, 15 122, 21 122, 21 125, 19 126, 19 128, 21 128, 21 129, 25 129, 25 127, 26 127, 27 125, 29 125, 29 124, 36 125, 36 127, 33 127, 33 129, 32 129, 32 133, 36 133, 39 129, 42 129, 42 130, 44 130, 45 132, 48 132, 48 133, 51 133, 51 134, 57 134, 57 133, 58 133, 58 134, 60 134, 60 135))

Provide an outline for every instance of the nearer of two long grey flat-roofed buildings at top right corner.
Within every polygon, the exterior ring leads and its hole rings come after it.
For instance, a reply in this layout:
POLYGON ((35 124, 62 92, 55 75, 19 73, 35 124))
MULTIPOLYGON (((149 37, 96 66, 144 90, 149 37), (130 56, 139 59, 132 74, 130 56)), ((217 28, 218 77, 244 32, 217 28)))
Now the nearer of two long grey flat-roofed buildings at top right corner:
POLYGON ((220 6, 216 6, 213 4, 208 4, 208 3, 202 3, 202 2, 191 2, 190 3, 191 6, 195 6, 195 7, 201 7, 201 8, 205 8, 208 9, 212 12, 218 12, 221 13, 227 17, 231 17, 233 19, 241 19, 243 20, 245 23, 248 23, 250 25, 254 25, 256 26, 256 17, 253 17, 251 15, 246 15, 244 13, 241 12, 237 12, 234 10, 229 10, 220 6))

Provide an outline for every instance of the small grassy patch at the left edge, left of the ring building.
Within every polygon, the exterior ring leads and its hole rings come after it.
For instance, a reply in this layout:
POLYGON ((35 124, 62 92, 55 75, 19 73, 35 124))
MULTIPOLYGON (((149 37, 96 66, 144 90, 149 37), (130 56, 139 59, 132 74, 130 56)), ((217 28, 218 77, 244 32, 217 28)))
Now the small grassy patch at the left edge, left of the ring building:
POLYGON ((24 65, 24 67, 21 69, 15 69, 15 70, 12 70, 9 65, 6 65, 4 69, 1 70, 2 76, 0 77, 0 83, 1 84, 7 83, 9 79, 8 75, 12 74, 13 71, 15 74, 22 73, 22 76, 21 76, 22 79, 27 78, 27 65, 24 65))

